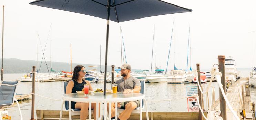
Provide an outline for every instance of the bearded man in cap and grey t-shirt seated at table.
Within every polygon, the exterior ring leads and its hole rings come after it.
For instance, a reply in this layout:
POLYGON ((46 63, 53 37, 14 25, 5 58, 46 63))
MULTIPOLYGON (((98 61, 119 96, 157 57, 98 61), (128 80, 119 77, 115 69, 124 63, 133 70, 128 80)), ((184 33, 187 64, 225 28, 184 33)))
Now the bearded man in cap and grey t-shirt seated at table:
MULTIPOLYGON (((140 93, 141 90, 141 83, 139 79, 132 77, 130 75, 130 72, 132 70, 131 65, 129 64, 123 64, 121 67, 121 76, 122 78, 120 80, 117 80, 115 84, 117 84, 117 91, 123 92, 124 94, 128 93, 140 93)), ((132 111, 136 109, 139 106, 139 101, 127 101, 127 102, 121 102, 117 104, 118 108, 125 109, 120 116, 118 117, 118 120, 127 120, 132 111)), ((111 105, 111 119, 115 119, 115 104, 112 103, 111 105)))

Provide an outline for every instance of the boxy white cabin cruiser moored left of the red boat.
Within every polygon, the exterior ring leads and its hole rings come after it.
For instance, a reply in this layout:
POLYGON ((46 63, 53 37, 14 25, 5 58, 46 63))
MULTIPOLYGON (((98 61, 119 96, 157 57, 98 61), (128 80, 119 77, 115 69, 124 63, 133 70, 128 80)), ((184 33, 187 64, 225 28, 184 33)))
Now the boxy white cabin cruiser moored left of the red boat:
POLYGON ((187 78, 184 70, 171 70, 165 75, 167 76, 167 83, 184 83, 187 78))

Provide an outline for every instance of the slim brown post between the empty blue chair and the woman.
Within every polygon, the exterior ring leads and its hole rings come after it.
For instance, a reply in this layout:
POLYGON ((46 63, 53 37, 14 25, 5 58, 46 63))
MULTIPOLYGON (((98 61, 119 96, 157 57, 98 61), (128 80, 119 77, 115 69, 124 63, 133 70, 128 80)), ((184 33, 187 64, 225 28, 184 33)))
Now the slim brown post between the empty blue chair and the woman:
MULTIPOLYGON (((35 66, 33 66, 33 78, 32 78, 32 93, 35 93, 35 66)), ((30 120, 35 120, 35 95, 32 95, 32 105, 31 105, 31 119, 30 120)))

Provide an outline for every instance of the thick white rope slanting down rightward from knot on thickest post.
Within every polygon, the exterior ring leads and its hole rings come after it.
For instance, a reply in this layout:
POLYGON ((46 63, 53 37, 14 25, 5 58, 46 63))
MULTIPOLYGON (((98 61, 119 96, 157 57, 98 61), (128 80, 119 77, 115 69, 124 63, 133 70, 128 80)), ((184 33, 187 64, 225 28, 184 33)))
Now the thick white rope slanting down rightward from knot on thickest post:
POLYGON ((222 84, 221 84, 221 76, 222 76, 221 72, 219 72, 218 70, 216 70, 216 72, 214 72, 214 74, 215 74, 215 76, 216 76, 216 78, 217 78, 217 82, 218 82, 219 88, 221 89, 222 96, 224 97, 224 99, 225 99, 225 101, 226 101, 226 103, 227 103, 227 105, 228 105, 228 108, 231 110, 231 112, 232 112, 232 114, 234 115, 234 117, 235 117, 237 120, 240 120, 240 118, 236 115, 235 111, 233 110, 232 106, 230 105, 230 103, 229 103, 229 101, 228 101, 228 99, 227 99, 227 96, 226 96, 226 94, 225 94, 225 92, 224 92, 224 90, 223 90, 223 88, 222 88, 223 86, 222 86, 222 84))

